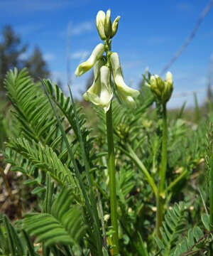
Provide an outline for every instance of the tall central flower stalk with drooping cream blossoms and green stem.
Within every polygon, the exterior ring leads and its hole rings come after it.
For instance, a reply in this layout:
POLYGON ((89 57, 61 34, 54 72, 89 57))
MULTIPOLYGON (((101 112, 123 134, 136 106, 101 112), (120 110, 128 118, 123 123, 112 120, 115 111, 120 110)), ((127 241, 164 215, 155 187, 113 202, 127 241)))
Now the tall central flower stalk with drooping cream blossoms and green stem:
POLYGON ((116 34, 119 25, 120 16, 117 16, 111 24, 111 11, 99 11, 96 17, 96 26, 100 38, 104 41, 99 43, 92 51, 89 59, 81 63, 75 70, 75 75, 80 76, 94 66, 94 82, 84 93, 84 100, 89 100, 94 105, 103 107, 107 118, 107 142, 108 142, 108 170, 109 170, 109 187, 110 187, 110 208, 111 208, 111 225, 114 233, 112 242, 115 247, 112 249, 113 255, 119 254, 119 232, 116 206, 116 178, 114 163, 114 139, 112 126, 111 99, 113 92, 111 90, 111 75, 115 82, 115 90, 121 102, 129 107, 136 107, 133 97, 139 95, 138 90, 134 90, 124 82, 121 63, 118 53, 111 52, 111 38, 116 34), (106 55, 104 55, 104 52, 106 55))

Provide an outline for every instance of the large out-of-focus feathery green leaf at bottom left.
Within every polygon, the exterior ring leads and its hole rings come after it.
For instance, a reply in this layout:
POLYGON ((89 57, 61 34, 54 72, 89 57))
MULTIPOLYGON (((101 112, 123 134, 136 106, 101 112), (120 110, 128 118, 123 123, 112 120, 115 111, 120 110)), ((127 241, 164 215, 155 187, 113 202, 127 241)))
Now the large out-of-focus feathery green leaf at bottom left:
POLYGON ((50 213, 31 213, 24 219, 24 227, 38 242, 45 245, 78 245, 87 226, 82 221, 82 208, 71 206, 70 190, 63 187, 53 202, 50 213))

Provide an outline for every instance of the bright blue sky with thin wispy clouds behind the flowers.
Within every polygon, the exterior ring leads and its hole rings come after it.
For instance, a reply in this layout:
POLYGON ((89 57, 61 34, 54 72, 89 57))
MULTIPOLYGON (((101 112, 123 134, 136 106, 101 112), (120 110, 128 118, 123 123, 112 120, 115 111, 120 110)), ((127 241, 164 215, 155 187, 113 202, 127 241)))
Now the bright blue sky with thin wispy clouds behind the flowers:
MULTIPOLYGON (((71 24, 70 67, 72 90, 80 97, 89 73, 75 78, 73 73, 100 43, 95 26, 97 11, 111 9, 114 20, 120 15, 119 30, 113 38, 112 50, 119 53, 127 84, 137 88, 148 66, 151 73, 160 73, 195 26, 207 0, 0 0, 0 29, 11 24, 28 43, 26 58, 39 46, 52 72, 66 84, 67 24, 71 24)), ((170 107, 184 100, 192 105, 192 96, 178 97, 180 92, 198 90, 204 100, 207 70, 213 52, 213 6, 204 18, 195 38, 170 68, 174 78, 174 96, 170 107), (202 91, 203 90, 203 91, 202 91)), ((213 57, 212 57, 213 58, 213 57)))

